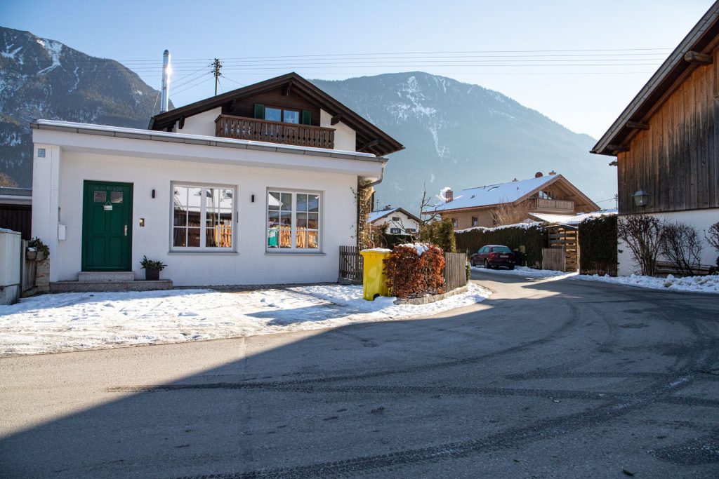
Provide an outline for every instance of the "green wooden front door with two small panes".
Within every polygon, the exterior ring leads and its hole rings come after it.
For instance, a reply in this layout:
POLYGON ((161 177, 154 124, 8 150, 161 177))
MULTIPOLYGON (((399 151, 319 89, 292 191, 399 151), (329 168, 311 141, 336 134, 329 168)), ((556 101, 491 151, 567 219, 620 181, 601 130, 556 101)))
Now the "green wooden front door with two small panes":
POLYGON ((83 271, 132 271, 132 184, 86 181, 83 271))

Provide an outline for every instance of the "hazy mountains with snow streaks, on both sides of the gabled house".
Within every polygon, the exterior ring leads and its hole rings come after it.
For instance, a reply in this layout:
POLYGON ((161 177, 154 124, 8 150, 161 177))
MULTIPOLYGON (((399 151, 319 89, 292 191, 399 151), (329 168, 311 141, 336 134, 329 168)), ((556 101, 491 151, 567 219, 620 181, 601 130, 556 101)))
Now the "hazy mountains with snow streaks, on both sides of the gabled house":
MULTIPOLYGON (((423 187, 434 196, 552 169, 595 201, 615 194, 615 168, 588 152, 594 139, 497 91, 423 72, 312 81, 405 145, 377 186, 380 207, 417 212, 423 187)), ((158 97, 119 62, 0 27, 0 172, 31 186, 36 118, 147 128, 158 97)))

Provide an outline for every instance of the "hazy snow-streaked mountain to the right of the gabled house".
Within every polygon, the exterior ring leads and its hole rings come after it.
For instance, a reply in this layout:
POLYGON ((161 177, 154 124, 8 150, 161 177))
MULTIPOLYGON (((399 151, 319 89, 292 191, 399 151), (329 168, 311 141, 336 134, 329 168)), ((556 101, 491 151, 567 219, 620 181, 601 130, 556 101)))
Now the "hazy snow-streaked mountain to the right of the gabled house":
POLYGON ((552 169, 592 200, 616 192, 615 167, 589 153, 594 139, 502 93, 422 72, 313 83, 405 145, 377 187, 380 207, 416 212, 424 182, 434 196, 446 186, 457 191, 552 169))

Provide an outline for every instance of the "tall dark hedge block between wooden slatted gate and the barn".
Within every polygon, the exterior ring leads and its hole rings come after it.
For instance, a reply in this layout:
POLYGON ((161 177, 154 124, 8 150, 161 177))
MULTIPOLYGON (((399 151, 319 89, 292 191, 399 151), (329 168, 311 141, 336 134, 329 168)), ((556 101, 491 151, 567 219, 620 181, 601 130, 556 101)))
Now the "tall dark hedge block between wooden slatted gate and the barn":
POLYGON ((617 216, 582 221, 579 227, 580 274, 617 275, 617 216))

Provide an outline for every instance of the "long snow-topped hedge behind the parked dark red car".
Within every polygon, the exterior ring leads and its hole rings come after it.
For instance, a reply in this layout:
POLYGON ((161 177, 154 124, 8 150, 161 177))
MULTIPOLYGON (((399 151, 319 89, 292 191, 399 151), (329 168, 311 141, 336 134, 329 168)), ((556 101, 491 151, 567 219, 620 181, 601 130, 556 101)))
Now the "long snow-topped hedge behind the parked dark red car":
POLYGON ((541 225, 500 226, 498 228, 471 228, 455 231, 457 251, 472 255, 487 244, 508 246, 517 253, 517 264, 541 268, 542 248, 546 248, 547 233, 541 225))

